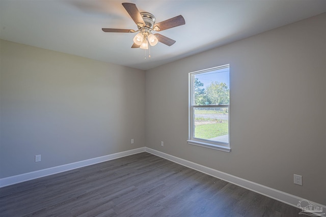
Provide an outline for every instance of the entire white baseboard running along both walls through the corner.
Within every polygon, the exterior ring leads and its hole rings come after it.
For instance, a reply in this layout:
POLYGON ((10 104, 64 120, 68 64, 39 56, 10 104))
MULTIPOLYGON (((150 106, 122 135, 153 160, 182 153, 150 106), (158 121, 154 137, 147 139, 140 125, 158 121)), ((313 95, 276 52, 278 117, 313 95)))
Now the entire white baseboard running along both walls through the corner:
MULTIPOLYGON (((136 149, 132 149, 132 150, 108 154, 106 156, 102 156, 102 157, 98 157, 98 158, 88 159, 85 161, 79 161, 79 162, 75 162, 75 163, 71 163, 71 164, 65 164, 65 165, 61 165, 61 166, 57 166, 57 167, 51 167, 51 168, 47 168, 47 169, 43 169, 43 170, 38 170, 38 171, 29 172, 29 173, 23 173, 23 174, 19 174, 19 175, 15 175, 15 176, 1 178, 0 179, 0 188, 8 186, 8 185, 16 184, 19 182, 23 182, 23 181, 28 181, 28 180, 56 174, 56 173, 65 172, 68 170, 77 169, 80 167, 98 164, 98 163, 101 163, 104 161, 110 161, 110 160, 114 160, 117 158, 126 157, 129 155, 144 152, 144 151, 154 154, 158 157, 167 159, 169 161, 175 162, 177 164, 200 171, 202 173, 211 175, 213 177, 236 184, 242 188, 245 188, 250 191, 256 192, 258 194, 264 195, 266 197, 281 201, 283 203, 294 206, 296 208, 299 208, 297 206, 297 204, 301 200, 304 200, 304 198, 297 197, 297 196, 294 196, 294 195, 291 195, 291 194, 288 194, 288 193, 285 193, 285 192, 282 192, 282 191, 279 191, 276 189, 272 189, 272 188, 266 187, 262 184, 258 184, 258 183, 255 183, 255 182, 243 179, 243 178, 239 178, 234 175, 231 175, 231 174, 228 174, 225 172, 221 172, 219 170, 215 170, 215 169, 212 169, 209 167, 205 167, 200 164, 196 164, 191 161, 187 161, 187 160, 172 156, 171 154, 167 154, 167 153, 157 151, 157 150, 154 150, 152 148, 147 148, 147 147, 136 148, 136 149)), ((315 203, 312 201, 310 201, 310 203, 321 207, 323 210, 323 213, 326 211, 326 205, 318 204, 318 203, 315 203)), ((326 217, 326 215, 321 215, 321 216, 326 217)))

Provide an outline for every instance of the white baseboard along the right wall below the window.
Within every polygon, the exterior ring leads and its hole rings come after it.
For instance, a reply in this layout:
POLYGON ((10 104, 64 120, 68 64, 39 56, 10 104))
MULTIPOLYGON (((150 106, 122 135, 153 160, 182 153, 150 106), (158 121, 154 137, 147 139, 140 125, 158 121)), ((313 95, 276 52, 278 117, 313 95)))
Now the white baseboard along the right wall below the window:
MULTIPOLYGON (((193 163, 191 161, 187 161, 187 160, 172 156, 170 154, 154 150, 152 148, 146 147, 145 151, 148 152, 148 153, 154 154, 154 155, 156 155, 158 157, 161 157, 161 158, 167 159, 169 161, 175 162, 177 164, 192 168, 192 169, 197 170, 199 172, 202 172, 202 173, 211 175, 213 177, 225 180, 227 182, 236 184, 236 185, 238 185, 238 186, 240 186, 242 188, 245 188, 245 189, 248 189, 250 191, 256 192, 258 194, 264 195, 266 197, 278 200, 280 202, 286 203, 286 204, 294 206, 296 208, 300 208, 300 207, 297 206, 297 204, 301 200, 305 200, 304 198, 297 197, 297 196, 294 196, 294 195, 291 195, 291 194, 288 194, 288 193, 285 193, 285 192, 282 192, 282 191, 279 191, 279 190, 276 190, 276 189, 272 189, 272 188, 266 187, 266 186, 264 186, 262 184, 258 184, 258 183, 255 183, 253 181, 249 181, 249 180, 246 180, 246 179, 243 179, 243 178, 239 178, 237 176, 234 176, 234 175, 231 175, 231 174, 228 174, 228 173, 225 173, 225 172, 221 172, 219 170, 215 170, 215 169, 212 169, 212 168, 209 168, 209 167, 205 167, 205 166, 202 166, 200 164, 196 164, 196 163, 193 163)), ((326 205, 318 204, 318 203, 315 203, 315 202, 312 202, 312 201, 310 201, 310 203, 321 207, 322 210, 323 210, 322 213, 326 212, 326 205)), ((325 216, 325 215, 321 215, 321 216, 325 216)))

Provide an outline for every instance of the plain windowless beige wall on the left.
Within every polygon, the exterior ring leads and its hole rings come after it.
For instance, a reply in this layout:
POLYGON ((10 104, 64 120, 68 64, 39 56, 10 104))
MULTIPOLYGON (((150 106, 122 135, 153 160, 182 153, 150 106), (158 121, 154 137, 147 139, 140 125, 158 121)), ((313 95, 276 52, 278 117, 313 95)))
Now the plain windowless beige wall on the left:
POLYGON ((0 178, 144 147, 144 71, 0 42, 0 178))

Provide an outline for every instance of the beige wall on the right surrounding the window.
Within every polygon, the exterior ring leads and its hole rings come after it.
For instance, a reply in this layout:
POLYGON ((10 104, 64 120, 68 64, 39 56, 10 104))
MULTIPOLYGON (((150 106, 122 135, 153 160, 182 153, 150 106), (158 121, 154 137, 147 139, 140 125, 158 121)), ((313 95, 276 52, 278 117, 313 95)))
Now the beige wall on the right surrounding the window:
POLYGON ((149 70, 146 146, 326 204, 325 57, 323 14, 149 70), (188 73, 225 64, 230 153, 186 142, 188 73))

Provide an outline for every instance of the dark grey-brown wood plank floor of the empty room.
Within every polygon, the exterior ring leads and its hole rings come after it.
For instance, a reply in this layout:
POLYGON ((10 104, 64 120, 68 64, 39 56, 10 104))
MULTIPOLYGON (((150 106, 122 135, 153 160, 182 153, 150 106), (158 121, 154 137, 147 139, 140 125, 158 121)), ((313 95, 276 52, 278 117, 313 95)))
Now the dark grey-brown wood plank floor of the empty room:
POLYGON ((301 210, 150 153, 0 189, 0 216, 299 216, 301 210))

